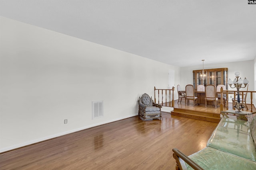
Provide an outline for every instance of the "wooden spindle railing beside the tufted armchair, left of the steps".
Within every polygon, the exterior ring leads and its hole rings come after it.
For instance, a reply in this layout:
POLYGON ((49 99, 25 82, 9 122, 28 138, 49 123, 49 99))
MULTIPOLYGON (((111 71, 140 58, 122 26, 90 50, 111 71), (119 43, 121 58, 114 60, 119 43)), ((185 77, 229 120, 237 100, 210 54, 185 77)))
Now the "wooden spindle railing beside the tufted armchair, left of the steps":
POLYGON ((174 107, 174 87, 172 87, 172 89, 156 89, 156 87, 154 87, 154 102, 157 104, 161 104, 162 106, 164 106, 165 104, 165 106, 168 105, 167 107, 174 107), (172 100, 171 100, 171 91, 172 91, 172 100), (164 96, 165 96, 165 101, 164 101, 164 96), (158 102, 156 102, 156 97, 158 97, 158 102), (160 98, 162 99, 161 101, 162 103, 160 103, 160 100, 159 100, 160 98))

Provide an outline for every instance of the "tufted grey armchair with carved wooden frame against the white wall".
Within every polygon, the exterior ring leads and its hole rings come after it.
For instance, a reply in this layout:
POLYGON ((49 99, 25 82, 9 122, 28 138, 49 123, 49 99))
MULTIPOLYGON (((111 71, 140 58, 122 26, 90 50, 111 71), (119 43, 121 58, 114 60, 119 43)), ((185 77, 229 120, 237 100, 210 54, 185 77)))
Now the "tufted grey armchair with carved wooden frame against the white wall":
POLYGON ((140 119, 146 121, 148 119, 162 119, 161 105, 153 102, 152 97, 144 93, 138 100, 140 119))

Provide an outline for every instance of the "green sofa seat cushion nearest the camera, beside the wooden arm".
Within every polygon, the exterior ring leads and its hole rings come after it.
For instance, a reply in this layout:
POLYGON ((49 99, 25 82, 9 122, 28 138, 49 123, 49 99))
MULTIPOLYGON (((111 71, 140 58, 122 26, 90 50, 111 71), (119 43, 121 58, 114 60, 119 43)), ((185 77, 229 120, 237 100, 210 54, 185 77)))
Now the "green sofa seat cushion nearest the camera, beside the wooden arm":
MULTIPOLYGON (((188 157, 205 170, 256 170, 256 162, 211 147, 188 157)), ((193 169, 186 166, 188 170, 193 169)))

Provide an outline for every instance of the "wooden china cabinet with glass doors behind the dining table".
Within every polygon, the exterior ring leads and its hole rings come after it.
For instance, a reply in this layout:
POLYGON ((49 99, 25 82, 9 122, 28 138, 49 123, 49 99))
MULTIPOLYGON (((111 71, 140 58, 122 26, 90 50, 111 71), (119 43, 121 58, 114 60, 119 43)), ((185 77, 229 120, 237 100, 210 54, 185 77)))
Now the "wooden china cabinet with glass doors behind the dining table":
POLYGON ((202 70, 193 70, 193 85, 195 90, 199 84, 206 86, 207 84, 213 84, 218 86, 224 84, 226 89, 228 89, 228 68, 213 68, 213 69, 204 69, 207 71, 207 79, 200 79, 200 71, 202 70))

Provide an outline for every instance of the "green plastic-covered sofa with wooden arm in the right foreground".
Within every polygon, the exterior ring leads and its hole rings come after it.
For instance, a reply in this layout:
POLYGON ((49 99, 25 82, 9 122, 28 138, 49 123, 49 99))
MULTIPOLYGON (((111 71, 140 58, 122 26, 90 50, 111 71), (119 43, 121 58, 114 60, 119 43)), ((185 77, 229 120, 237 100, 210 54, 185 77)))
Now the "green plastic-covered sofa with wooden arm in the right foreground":
POLYGON ((206 147, 190 156, 173 149, 176 170, 256 170, 256 116, 223 117, 206 147))

